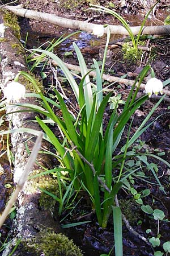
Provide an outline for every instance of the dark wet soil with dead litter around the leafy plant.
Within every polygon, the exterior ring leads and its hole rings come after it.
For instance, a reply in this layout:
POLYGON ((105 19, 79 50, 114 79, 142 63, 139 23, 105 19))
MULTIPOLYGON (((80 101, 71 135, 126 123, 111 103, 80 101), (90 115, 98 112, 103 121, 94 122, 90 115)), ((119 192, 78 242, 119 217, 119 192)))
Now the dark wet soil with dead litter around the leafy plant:
MULTIPOLYGON (((66 2, 66 1, 64 1, 66 2)), ((126 1, 126 5, 121 5, 123 1, 115 1, 117 3, 116 10, 119 11, 120 14, 125 15, 125 18, 129 20, 130 26, 138 26, 136 20, 140 20, 146 12, 146 6, 142 5, 142 1, 126 1), (128 14, 127 14, 128 12, 128 14), (137 16, 134 16, 137 15, 137 16), (135 20, 135 23, 134 23, 135 20)), ((56 1, 24 1, 20 0, 20 3, 24 3, 24 7, 29 9, 37 10, 37 11, 45 11, 46 13, 53 13, 59 16, 63 16, 71 19, 79 19, 79 20, 87 20, 89 15, 94 17, 92 22, 95 23, 111 23, 116 24, 116 20, 114 20, 109 15, 101 15, 94 14, 89 12, 87 14, 84 11, 88 5, 83 4, 79 5, 75 10, 70 10, 63 8, 61 4, 56 1)), ((105 1, 100 1, 101 5, 104 5, 105 1)), ((162 1, 161 5, 156 10, 156 19, 153 17, 149 20, 150 24, 162 24, 165 16, 167 15, 167 3, 162 1)), ((39 47, 41 44, 46 42, 47 40, 51 41, 52 39, 58 39, 61 35, 69 34, 70 32, 74 32, 71 30, 59 28, 54 26, 53 24, 49 24, 46 22, 38 22, 36 20, 29 20, 19 18, 19 24, 22 32, 22 40, 25 41, 25 38, 28 33, 28 39, 26 42, 27 49, 39 47)), ((121 37, 122 40, 124 38, 121 37)), ((112 36, 111 42, 115 43, 117 40, 121 40, 120 36, 112 36)), ((102 45, 105 44, 105 38, 96 39, 95 36, 89 35, 86 32, 82 32, 79 35, 74 36, 73 38, 67 40, 67 42, 60 45, 57 49, 55 49, 61 59, 71 64, 78 64, 75 53, 72 48, 72 43, 76 42, 79 48, 84 51, 83 56, 86 59, 86 63, 88 68, 93 64, 92 57, 95 57, 97 60, 102 60, 102 45), (86 51, 87 47, 93 48, 93 46, 99 46, 96 51, 92 51, 90 54, 86 51), (65 56, 65 51, 73 52, 73 55, 65 56)), ((109 73, 112 71, 112 75, 114 76, 122 76, 127 74, 128 79, 135 79, 138 73, 138 68, 145 66, 147 63, 150 63, 154 68, 155 75, 157 78, 165 81, 169 79, 170 76, 170 35, 164 36, 162 38, 151 37, 145 39, 148 45, 153 49, 152 54, 150 56, 149 53, 145 52, 142 61, 139 61, 135 64, 129 64, 122 58, 121 47, 119 46, 117 49, 112 49, 107 58, 107 63, 105 67, 105 72, 109 73)), ((45 48, 46 46, 42 47, 45 48)), ((48 84, 52 83, 53 80, 53 72, 49 69, 45 69, 44 72, 48 73, 48 77, 44 79, 44 85, 48 88, 48 84)), ((40 75, 40 69, 35 70, 36 75, 40 75)), ((105 83, 105 86, 108 84, 105 83)), ((67 97, 74 104, 74 98, 70 92, 69 88, 64 88, 67 97)), ((130 88, 126 85, 115 86, 113 88, 113 92, 116 95, 117 93, 122 94, 122 99, 126 100, 128 96, 130 88)), ((167 85, 165 89, 169 89, 167 85)), ((143 93, 143 91, 141 91, 143 93)), ((158 98, 156 99, 158 101, 158 98)), ((134 121, 132 126, 132 133, 137 130, 137 127, 141 125, 143 119, 145 119, 146 115, 150 112, 151 108, 155 105, 155 98, 148 100, 139 108, 134 114, 134 121)), ((156 110, 152 119, 155 121, 153 125, 147 129, 147 131, 141 136, 140 141, 135 145, 138 152, 146 151, 149 152, 158 152, 159 155, 167 162, 169 160, 169 150, 170 150, 170 111, 168 110, 169 102, 163 102, 163 104, 159 105, 159 108, 156 110), (160 115, 160 117, 159 117, 160 115), (159 118, 158 118, 159 117, 159 118), (156 119, 157 118, 157 119, 156 119), (143 143, 143 146, 140 146, 140 143, 143 143)), ((122 106, 119 106, 118 111, 121 112, 122 106)), ((109 116, 106 113, 106 117, 109 116)), ((126 133, 122 137, 122 144, 126 141, 126 133)), ((120 145, 121 146, 121 145, 120 145)), ((157 154, 157 153, 156 153, 157 154)), ((158 177, 160 179, 160 183, 165 189, 164 193, 159 189, 159 186, 155 185, 155 178, 151 175, 151 173, 147 170, 146 177, 135 176, 135 184, 134 188, 138 191, 142 191, 143 189, 150 189, 151 193, 149 196, 143 199, 143 203, 146 205, 151 205, 154 209, 162 209, 165 213, 165 218, 169 218, 170 208, 169 208, 169 170, 165 164, 159 162, 159 160, 150 159, 148 160, 152 163, 158 164, 158 177)), ((5 176, 3 179, 8 179, 5 176)), ((2 185, 3 186, 3 185, 2 185)), ((1 187, 1 183, 0 183, 1 187)), ((3 188, 2 195, 6 195, 5 188, 3 188)), ((2 205, 4 207, 4 201, 2 197, 2 205)), ((114 244, 113 237, 113 225, 112 225, 112 217, 109 220, 108 228, 101 229, 97 224, 97 220, 95 217, 95 213, 91 210, 90 205, 87 204, 88 196, 86 193, 82 192, 82 195, 79 195, 79 203, 76 205, 76 208, 71 212, 70 216, 65 219, 62 224, 68 224, 78 221, 91 221, 88 224, 84 224, 78 226, 76 228, 65 229, 65 232, 70 238, 79 245, 85 256, 100 256, 100 254, 108 254, 112 249, 114 244)), ((151 229, 154 236, 156 236, 156 225, 157 221, 153 218, 150 218, 148 214, 145 214, 140 209, 140 205, 138 205, 133 196, 122 189, 120 195, 118 195, 118 200, 120 201, 122 213, 126 215, 126 218, 129 220, 131 226, 139 233, 141 236, 150 237, 150 234, 146 234, 146 229, 151 229), (125 204, 125 202, 128 204, 125 204)), ((0 201, 1 203, 1 201, 0 201)), ((77 201, 75 201, 75 204, 77 201)), ((61 216, 61 219, 65 217, 67 212, 64 212, 61 216)), ((169 222, 162 221, 160 223, 160 234, 162 234, 161 245, 156 248, 156 250, 162 250, 163 242, 170 241, 169 237, 169 222)), ((135 237, 129 230, 123 225, 123 242, 124 242, 124 255, 154 255, 154 249, 150 245, 150 243, 145 243, 142 240, 139 240, 138 237, 135 237)), ((114 250, 113 250, 114 251, 114 250)), ((114 255, 114 252, 111 254, 114 255)))

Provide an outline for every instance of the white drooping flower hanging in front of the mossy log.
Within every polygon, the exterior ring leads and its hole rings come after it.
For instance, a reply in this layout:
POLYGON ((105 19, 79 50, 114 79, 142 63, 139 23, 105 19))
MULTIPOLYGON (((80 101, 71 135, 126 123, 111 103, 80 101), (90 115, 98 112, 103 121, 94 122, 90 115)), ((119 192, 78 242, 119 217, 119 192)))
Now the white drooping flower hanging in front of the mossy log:
POLYGON ((4 88, 4 96, 7 98, 7 102, 19 101, 25 97, 25 86, 12 81, 4 88))

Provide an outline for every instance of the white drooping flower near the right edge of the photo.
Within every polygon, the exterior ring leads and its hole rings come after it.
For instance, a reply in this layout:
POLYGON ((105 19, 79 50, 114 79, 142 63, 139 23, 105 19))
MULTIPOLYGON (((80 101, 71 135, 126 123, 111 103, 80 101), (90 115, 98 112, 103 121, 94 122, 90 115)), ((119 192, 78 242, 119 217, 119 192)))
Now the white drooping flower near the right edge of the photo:
POLYGON ((156 77, 152 77, 150 80, 147 81, 145 85, 145 92, 148 93, 148 97, 151 97, 152 93, 158 95, 163 94, 163 83, 156 77))

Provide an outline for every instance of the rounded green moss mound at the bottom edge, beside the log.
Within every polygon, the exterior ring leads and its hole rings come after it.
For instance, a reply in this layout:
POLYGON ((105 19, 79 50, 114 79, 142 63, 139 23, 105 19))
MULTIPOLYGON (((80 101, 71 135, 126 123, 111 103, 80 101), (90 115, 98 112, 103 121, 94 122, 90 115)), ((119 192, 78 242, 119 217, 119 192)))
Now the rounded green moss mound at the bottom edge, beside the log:
POLYGON ((83 256, 82 251, 64 234, 51 229, 41 230, 36 238, 25 241, 28 251, 36 251, 45 256, 83 256))

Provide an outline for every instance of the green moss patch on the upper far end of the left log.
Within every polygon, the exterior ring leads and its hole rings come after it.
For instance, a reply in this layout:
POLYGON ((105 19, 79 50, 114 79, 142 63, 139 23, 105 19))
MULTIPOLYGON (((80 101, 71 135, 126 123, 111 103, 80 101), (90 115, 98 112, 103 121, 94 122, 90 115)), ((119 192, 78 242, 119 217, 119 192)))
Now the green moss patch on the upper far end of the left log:
POLYGON ((11 11, 3 10, 4 24, 12 29, 12 32, 20 40, 20 26, 17 16, 11 11))

